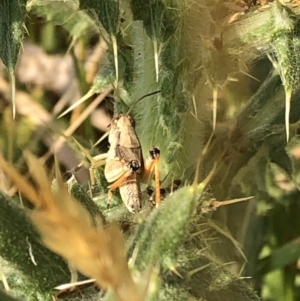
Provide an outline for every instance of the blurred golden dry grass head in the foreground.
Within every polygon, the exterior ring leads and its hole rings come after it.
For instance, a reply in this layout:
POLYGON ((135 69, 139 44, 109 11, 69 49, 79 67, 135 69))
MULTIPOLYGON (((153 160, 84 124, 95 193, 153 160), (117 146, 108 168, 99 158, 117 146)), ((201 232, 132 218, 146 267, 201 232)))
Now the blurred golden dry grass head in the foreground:
MULTIPOLYGON (((125 241, 115 224, 93 223, 85 210, 68 193, 57 176, 58 188, 51 190, 47 172, 38 159, 25 153, 36 188, 23 178, 0 155, 0 168, 18 186, 35 209, 29 217, 39 231, 43 243, 104 289, 112 289, 118 301, 141 301, 130 274, 125 241)), ((59 175, 59 173, 58 173, 59 175)))

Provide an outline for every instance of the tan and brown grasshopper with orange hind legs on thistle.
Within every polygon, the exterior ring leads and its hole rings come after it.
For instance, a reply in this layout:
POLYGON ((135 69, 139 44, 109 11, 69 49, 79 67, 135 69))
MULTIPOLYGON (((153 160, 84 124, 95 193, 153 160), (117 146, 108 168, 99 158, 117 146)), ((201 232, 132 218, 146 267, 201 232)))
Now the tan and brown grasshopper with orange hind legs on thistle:
MULTIPOLYGON (((150 93, 144 97, 158 92, 150 93)), ((110 149, 105 155, 106 165, 104 175, 106 180, 112 183, 109 185, 110 197, 112 191, 119 188, 121 198, 127 209, 135 213, 142 206, 141 182, 147 181, 151 177, 153 170, 156 187, 156 205, 160 203, 160 150, 156 146, 151 147, 149 156, 144 161, 141 144, 135 132, 135 121, 128 114, 129 111, 127 114, 113 117, 111 121, 108 135, 110 149)), ((96 165, 99 166, 99 164, 96 165)))

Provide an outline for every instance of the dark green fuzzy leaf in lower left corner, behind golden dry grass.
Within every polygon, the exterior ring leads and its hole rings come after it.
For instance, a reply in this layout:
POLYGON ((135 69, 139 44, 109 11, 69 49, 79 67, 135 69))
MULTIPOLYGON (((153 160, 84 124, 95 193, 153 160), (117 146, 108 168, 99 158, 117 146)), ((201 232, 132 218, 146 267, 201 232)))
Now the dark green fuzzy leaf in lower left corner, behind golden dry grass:
MULTIPOLYGON (((25 290, 48 294, 68 280, 69 272, 61 257, 40 243, 39 235, 26 216, 8 197, 0 193, 0 254, 26 277, 25 290)), ((12 285, 12 289, 18 289, 12 285)), ((2 298, 0 298, 2 300, 2 298)))

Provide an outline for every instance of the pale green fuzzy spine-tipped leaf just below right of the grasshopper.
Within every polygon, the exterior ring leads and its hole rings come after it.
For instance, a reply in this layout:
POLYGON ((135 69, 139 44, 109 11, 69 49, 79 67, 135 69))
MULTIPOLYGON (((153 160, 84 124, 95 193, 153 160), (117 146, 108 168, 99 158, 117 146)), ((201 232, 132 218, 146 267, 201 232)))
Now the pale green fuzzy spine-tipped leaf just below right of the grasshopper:
POLYGON ((177 190, 140 225, 129 248, 129 254, 138 251, 134 261, 138 270, 153 262, 175 269, 178 246, 184 240, 201 193, 201 188, 192 186, 177 190))

